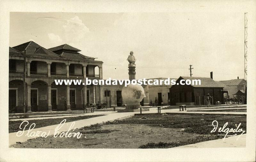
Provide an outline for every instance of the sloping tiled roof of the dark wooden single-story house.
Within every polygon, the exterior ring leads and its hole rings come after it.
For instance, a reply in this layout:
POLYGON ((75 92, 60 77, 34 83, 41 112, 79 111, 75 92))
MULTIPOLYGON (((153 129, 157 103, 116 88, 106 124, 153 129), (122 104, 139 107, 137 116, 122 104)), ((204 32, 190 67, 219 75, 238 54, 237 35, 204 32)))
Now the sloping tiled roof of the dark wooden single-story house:
MULTIPOLYGON (((204 77, 189 77, 189 76, 180 76, 180 78, 184 80, 201 80, 201 85, 192 85, 191 86, 197 88, 197 87, 205 87, 205 88, 224 88, 223 84, 220 84, 218 81, 214 81, 212 78, 204 78, 204 77)), ((179 79, 180 79, 179 78, 179 79)), ((191 81, 192 82, 192 81, 191 81)))

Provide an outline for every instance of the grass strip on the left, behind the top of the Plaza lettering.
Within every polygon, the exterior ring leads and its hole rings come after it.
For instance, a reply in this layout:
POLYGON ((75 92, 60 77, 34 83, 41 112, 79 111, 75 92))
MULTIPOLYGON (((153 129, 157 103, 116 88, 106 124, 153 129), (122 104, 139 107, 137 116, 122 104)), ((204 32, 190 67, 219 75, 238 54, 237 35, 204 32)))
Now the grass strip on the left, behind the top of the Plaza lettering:
MULTIPOLYGON (((35 128, 40 128, 40 127, 46 127, 46 126, 51 126, 51 125, 56 125, 56 124, 60 124, 60 122, 64 119, 67 119, 66 122, 72 122, 72 121, 77 121, 77 120, 83 120, 83 119, 89 119, 89 118, 94 118, 94 117, 99 117, 99 116, 104 116, 102 114, 100 115, 86 115, 86 116, 77 116, 77 117, 72 117, 72 118, 56 118, 56 119, 38 119, 38 120, 28 120, 29 124, 28 126, 25 128, 25 130, 29 129, 29 126, 32 123, 35 123, 36 126, 35 128)), ((20 124, 22 123, 22 121, 10 121, 9 120, 9 133, 12 132, 17 132, 20 129, 20 124)), ((24 127, 24 126, 23 126, 24 127)), ((22 128, 23 128, 22 127, 22 128)))

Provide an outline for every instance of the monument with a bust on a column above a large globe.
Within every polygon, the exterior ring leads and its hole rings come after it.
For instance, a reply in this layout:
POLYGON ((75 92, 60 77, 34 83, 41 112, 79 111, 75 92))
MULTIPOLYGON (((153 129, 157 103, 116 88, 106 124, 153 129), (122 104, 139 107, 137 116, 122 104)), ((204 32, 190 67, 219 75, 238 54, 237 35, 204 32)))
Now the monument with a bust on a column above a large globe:
MULTIPOLYGON (((130 55, 127 58, 128 70, 129 70, 129 80, 132 81, 135 79, 135 68, 136 68, 136 58, 133 55, 133 51, 130 52, 130 55)), ((139 107, 140 102, 144 97, 146 97, 144 89, 141 85, 136 84, 132 85, 129 84, 127 87, 123 87, 122 89, 122 97, 124 102, 126 103, 126 107, 124 110, 118 110, 117 112, 138 112, 140 111, 139 107)), ((149 109, 142 109, 143 111, 149 111, 149 109)))

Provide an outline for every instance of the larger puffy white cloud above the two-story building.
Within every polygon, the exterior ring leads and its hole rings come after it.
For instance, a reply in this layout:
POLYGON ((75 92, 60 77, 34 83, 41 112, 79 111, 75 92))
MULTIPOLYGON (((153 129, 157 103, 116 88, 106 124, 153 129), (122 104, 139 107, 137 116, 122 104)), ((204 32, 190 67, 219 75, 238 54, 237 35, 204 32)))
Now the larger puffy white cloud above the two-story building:
POLYGON ((67 21, 64 28, 64 39, 71 44, 77 44, 84 39, 85 34, 89 32, 89 28, 84 25, 78 16, 71 18, 67 21))

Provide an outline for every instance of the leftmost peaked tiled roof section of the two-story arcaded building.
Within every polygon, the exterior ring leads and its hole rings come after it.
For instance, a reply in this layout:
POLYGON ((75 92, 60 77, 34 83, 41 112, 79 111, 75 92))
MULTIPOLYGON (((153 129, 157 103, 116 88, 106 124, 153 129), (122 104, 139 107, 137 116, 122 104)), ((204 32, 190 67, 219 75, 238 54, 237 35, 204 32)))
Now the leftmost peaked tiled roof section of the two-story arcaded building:
MULTIPOLYGON (((20 52, 23 52, 24 50, 26 50, 26 55, 40 55, 40 54, 44 54, 47 57, 51 57, 51 58, 60 58, 60 56, 58 56, 57 54, 53 53, 50 50, 47 50, 46 48, 36 44, 33 41, 30 42, 26 42, 23 44, 20 44, 18 46, 12 47, 15 50, 18 50, 20 52), (41 48, 41 49, 40 49, 41 48), (36 51, 38 51, 38 49, 40 49, 41 51, 43 50, 44 52, 42 53, 36 53, 36 51)), ((40 51, 39 50, 39 51, 40 51)))

